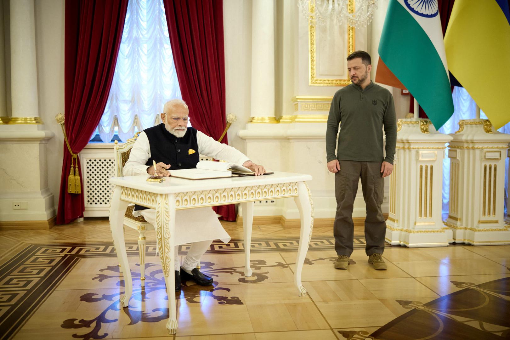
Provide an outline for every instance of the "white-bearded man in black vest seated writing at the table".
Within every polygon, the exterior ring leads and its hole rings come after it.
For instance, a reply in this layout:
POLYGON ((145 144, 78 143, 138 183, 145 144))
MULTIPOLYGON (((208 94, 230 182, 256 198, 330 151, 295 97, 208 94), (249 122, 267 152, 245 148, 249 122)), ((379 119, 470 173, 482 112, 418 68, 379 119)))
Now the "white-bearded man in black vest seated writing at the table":
MULTIPOLYGON (((217 160, 225 160, 251 169, 256 175, 264 173, 264 167, 251 162, 246 155, 226 144, 221 144, 188 125, 188 106, 181 99, 165 103, 161 120, 163 123, 143 130, 131 149, 123 174, 169 176, 168 169, 196 168, 199 154, 217 160), (152 166, 155 161, 156 170, 152 166)), ((142 215, 156 226, 156 211, 135 205, 133 215, 142 215)), ((188 254, 180 267, 175 261, 175 292, 181 291, 181 279, 192 280, 200 285, 209 285, 213 279, 201 273, 197 264, 213 240, 224 243, 230 236, 221 226, 211 207, 178 210, 175 213, 175 259, 178 245, 191 243, 188 254)))

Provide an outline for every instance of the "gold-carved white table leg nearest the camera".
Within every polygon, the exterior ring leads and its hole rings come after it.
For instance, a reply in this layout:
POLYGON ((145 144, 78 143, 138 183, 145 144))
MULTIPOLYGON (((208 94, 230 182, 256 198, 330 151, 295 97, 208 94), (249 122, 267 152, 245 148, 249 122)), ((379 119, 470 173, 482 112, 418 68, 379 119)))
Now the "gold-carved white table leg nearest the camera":
POLYGON ((156 239, 160 252, 161 267, 165 276, 166 293, 168 295, 169 317, 166 324, 168 333, 177 331, 177 307, 175 303, 174 277, 174 239, 175 230, 175 197, 173 194, 158 195, 156 199, 156 239))

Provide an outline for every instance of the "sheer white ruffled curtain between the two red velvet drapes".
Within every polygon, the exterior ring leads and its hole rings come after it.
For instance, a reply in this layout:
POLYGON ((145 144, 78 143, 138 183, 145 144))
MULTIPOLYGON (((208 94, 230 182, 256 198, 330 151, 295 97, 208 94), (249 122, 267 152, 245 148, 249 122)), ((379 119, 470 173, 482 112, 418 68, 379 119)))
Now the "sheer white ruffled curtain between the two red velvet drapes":
POLYGON ((130 0, 105 113, 104 142, 118 127, 122 141, 159 123, 165 101, 181 97, 162 0, 130 0))

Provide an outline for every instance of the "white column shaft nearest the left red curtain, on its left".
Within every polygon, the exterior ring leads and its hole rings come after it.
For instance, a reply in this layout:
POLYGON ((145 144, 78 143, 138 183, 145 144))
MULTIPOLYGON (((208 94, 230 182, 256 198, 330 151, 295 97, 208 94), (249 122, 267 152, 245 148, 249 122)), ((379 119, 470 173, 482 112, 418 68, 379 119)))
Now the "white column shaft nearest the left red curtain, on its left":
MULTIPOLYGON (((11 0, 11 123, 37 117, 37 66, 33 0, 11 0), (21 119, 24 120, 24 119, 21 119)), ((25 120, 26 121, 26 120, 25 120)))

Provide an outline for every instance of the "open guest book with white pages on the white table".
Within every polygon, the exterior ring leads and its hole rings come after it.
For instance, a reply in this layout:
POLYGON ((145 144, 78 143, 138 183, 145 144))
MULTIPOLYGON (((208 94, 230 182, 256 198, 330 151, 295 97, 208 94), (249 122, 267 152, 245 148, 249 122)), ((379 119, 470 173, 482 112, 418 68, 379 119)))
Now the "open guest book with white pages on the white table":
MULTIPOLYGON (((196 169, 169 170, 168 172, 170 172, 172 177, 185 179, 212 179, 255 175, 253 171, 239 164, 211 161, 198 162, 196 169)), ((264 175, 272 173, 274 172, 265 172, 264 175)))

